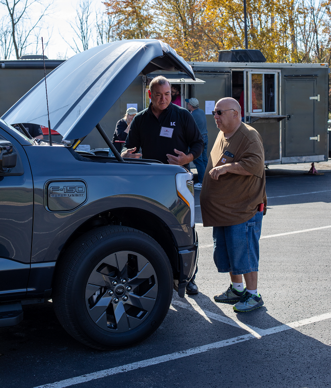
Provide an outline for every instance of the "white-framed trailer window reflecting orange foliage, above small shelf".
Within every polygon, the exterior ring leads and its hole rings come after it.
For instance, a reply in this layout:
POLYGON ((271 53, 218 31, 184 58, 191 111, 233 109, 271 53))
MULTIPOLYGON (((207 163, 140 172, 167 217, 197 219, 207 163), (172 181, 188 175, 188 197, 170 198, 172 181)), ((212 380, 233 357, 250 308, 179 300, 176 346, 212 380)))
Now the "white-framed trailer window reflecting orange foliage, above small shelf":
POLYGON ((275 113, 275 73, 251 73, 251 113, 275 113))

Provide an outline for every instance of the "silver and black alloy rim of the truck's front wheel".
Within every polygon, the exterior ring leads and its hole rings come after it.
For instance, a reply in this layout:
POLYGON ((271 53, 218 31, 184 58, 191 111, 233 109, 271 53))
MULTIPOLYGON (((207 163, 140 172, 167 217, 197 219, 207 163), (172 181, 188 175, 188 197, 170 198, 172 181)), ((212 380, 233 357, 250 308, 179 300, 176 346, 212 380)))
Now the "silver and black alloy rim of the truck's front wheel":
POLYGON ((157 290, 149 260, 136 252, 119 251, 106 256, 92 271, 86 284, 86 307, 101 329, 123 333, 147 318, 157 290))

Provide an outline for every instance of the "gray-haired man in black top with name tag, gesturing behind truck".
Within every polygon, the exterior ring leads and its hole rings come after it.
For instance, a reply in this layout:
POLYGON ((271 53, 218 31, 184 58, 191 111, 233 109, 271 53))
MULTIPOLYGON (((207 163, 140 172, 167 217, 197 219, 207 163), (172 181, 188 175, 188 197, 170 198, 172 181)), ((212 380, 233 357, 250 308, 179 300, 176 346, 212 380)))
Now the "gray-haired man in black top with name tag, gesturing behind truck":
MULTIPOLYGON (((132 120, 123 150, 123 158, 159 160, 164 164, 188 167, 204 147, 198 126, 188 110, 171 102, 171 84, 155 77, 148 91, 151 104, 132 120), (137 151, 142 148, 142 154, 137 151), (188 150, 189 148, 189 150, 188 150)), ((196 271, 197 272, 197 271, 196 271)), ((195 275, 186 287, 187 294, 197 294, 195 275)))

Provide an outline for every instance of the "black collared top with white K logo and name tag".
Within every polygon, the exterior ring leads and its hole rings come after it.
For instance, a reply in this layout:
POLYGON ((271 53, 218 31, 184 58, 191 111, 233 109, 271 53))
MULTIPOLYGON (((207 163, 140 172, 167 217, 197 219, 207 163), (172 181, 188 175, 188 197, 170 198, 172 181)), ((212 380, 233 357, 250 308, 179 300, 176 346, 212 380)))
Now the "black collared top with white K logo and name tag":
POLYGON ((136 153, 142 148, 144 159, 168 164, 167 154, 178 156, 174 148, 185 154, 190 153, 197 159, 203 151, 204 141, 187 109, 170 103, 156 118, 150 104, 134 116, 122 152, 133 147, 137 148, 136 153), (164 136, 165 132, 169 137, 164 136))

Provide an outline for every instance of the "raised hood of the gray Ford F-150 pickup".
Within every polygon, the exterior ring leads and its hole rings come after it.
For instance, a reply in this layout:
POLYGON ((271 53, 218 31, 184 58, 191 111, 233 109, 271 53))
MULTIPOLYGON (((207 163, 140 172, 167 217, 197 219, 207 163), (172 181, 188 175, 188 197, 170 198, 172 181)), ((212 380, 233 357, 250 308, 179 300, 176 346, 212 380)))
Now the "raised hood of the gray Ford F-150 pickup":
MULTIPOLYGON (((87 136, 139 74, 192 68, 168 44, 156 39, 111 42, 74 55, 46 76, 49 119, 63 139, 87 136)), ((8 124, 48 127, 45 80, 13 105, 8 124)))

